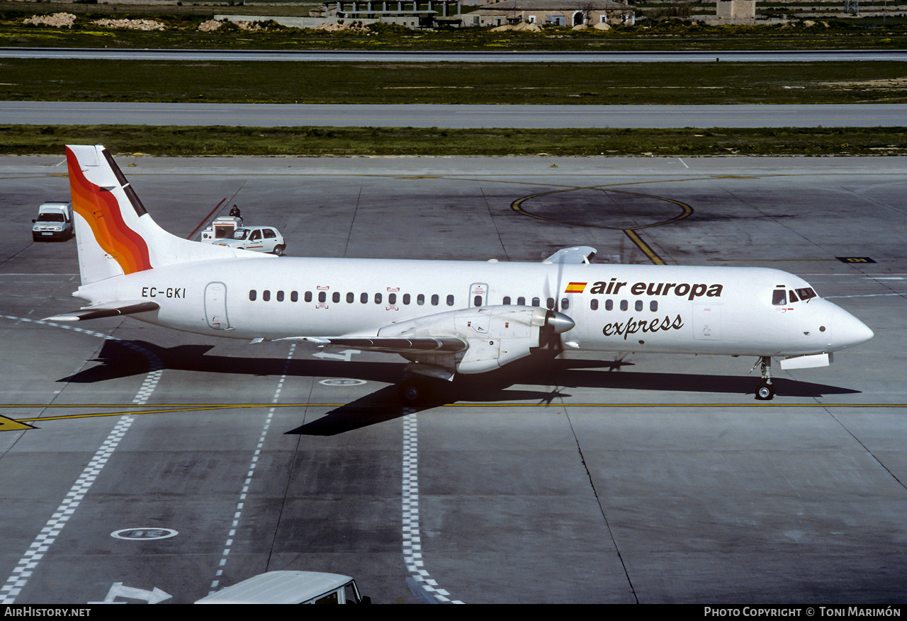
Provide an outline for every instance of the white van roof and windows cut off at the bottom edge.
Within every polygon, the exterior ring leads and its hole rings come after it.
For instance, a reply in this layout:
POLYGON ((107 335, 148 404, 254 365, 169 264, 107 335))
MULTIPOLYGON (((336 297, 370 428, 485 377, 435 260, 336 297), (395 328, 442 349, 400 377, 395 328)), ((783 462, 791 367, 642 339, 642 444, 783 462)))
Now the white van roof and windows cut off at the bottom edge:
MULTIPOLYGON (((356 600, 361 600, 356 583, 349 576, 319 571, 268 571, 242 580, 232 587, 222 588, 195 603, 314 604, 318 599, 331 595, 346 585, 352 585, 356 600)), ((330 603, 342 603, 342 600, 332 598, 330 603)))

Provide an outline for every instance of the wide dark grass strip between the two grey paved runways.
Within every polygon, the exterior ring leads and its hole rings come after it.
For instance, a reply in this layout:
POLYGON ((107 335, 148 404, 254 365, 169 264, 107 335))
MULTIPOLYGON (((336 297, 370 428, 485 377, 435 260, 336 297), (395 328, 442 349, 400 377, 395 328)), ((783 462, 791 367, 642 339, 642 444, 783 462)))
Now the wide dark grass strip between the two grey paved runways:
MULTIPOLYGON (((303 63, 5 59, 0 100, 904 103, 904 63, 303 63)), ((338 113, 343 113, 338 108, 338 113)))

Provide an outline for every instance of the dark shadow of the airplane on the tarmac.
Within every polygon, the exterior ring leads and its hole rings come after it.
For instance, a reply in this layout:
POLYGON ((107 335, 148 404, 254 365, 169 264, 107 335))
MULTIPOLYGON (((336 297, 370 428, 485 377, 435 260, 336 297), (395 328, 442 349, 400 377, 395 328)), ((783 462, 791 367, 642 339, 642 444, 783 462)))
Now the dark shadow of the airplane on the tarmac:
MULTIPOLYGON (((164 348, 143 341, 134 344, 157 355, 165 370, 190 371, 222 375, 283 375, 290 377, 343 377, 366 382, 389 383, 374 393, 346 403, 287 433, 301 435, 336 435, 379 422, 401 418, 409 412, 430 410, 444 403, 536 402, 547 404, 555 399, 569 399, 571 388, 601 388, 673 393, 753 394, 758 377, 753 375, 614 373, 633 363, 571 360, 553 358, 543 353, 524 358, 505 368, 481 375, 458 375, 451 383, 434 383, 434 398, 418 408, 404 408, 397 399, 396 383, 403 377, 404 363, 344 362, 336 360, 286 358, 249 358, 209 355, 213 345, 178 345, 164 348), (522 386, 545 386, 545 390, 512 389, 522 386), (549 389, 549 387, 553 388, 549 389)), ((116 378, 148 373, 145 355, 118 344, 106 342, 95 362, 101 363, 59 380, 66 383, 97 383, 116 378)), ((777 396, 822 397, 829 394, 853 394, 859 391, 822 383, 774 380, 777 396)), ((607 398, 607 397, 606 397, 607 398)))

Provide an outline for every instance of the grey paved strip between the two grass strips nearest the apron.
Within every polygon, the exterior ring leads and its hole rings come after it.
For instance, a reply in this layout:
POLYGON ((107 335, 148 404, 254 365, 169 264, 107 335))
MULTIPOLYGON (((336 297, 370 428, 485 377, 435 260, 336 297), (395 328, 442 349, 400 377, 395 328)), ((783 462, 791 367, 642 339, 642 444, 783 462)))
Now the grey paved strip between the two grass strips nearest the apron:
POLYGON ((902 127, 902 103, 795 105, 320 105, 0 102, 0 123, 249 127, 902 127))

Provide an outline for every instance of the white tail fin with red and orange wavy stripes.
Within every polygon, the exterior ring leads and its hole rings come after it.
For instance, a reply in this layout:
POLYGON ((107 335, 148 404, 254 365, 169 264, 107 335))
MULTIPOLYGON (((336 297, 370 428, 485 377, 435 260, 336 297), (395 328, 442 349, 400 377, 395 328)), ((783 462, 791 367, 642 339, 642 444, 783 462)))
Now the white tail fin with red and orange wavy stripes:
POLYGON ((83 285, 174 263, 237 257, 232 248, 178 238, 159 227, 102 145, 68 145, 66 163, 83 285))

